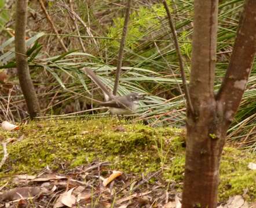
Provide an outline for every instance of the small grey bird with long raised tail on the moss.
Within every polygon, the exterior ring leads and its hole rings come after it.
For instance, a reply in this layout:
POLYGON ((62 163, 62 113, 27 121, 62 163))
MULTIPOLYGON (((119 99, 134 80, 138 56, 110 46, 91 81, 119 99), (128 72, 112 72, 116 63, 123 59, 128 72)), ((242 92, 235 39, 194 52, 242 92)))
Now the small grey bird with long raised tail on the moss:
POLYGON ((85 70, 90 79, 92 79, 93 82, 103 91, 105 102, 100 105, 108 107, 111 114, 125 115, 136 112, 139 106, 139 101, 144 98, 143 94, 131 92, 125 96, 115 96, 110 92, 110 90, 108 90, 92 70, 88 68, 83 68, 83 70, 85 70))

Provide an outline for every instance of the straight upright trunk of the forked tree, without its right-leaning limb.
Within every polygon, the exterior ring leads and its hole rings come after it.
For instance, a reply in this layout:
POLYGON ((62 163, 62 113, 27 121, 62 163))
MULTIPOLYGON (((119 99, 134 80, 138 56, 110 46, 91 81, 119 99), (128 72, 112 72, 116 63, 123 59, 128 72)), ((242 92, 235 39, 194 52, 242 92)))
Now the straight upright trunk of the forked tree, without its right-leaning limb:
POLYGON ((217 204, 220 140, 216 135, 214 70, 217 43, 218 0, 195 0, 192 69, 188 109, 185 181, 182 207, 215 207, 217 204), (203 38, 202 38, 203 37, 203 38), (213 128, 213 129, 212 129, 213 128), (209 203, 211 202, 211 204, 209 203))

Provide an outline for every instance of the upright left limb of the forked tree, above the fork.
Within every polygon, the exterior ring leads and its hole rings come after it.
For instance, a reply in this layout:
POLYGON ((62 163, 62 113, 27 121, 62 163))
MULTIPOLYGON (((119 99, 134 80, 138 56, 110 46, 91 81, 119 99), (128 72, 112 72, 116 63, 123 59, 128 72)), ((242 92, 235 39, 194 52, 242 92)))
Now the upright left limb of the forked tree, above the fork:
MULTIPOLYGON (((217 47, 218 0, 197 0, 194 4, 195 17, 189 93, 194 113, 199 116, 199 112, 215 109, 213 107, 215 105, 213 87, 217 47)), ((188 113, 190 113, 189 110, 188 113)))

